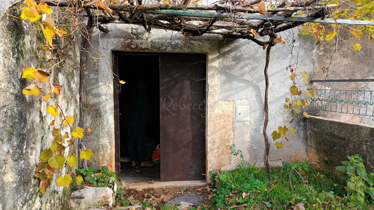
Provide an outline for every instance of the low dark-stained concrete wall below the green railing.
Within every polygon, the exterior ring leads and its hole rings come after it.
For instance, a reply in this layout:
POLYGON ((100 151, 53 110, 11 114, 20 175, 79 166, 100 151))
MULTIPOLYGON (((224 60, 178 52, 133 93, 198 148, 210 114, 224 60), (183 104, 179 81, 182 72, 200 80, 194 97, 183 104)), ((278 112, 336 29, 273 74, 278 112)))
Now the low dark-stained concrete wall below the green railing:
POLYGON ((368 172, 374 170, 374 126, 324 117, 306 119, 309 160, 332 170, 347 160, 346 155, 361 154, 368 172))

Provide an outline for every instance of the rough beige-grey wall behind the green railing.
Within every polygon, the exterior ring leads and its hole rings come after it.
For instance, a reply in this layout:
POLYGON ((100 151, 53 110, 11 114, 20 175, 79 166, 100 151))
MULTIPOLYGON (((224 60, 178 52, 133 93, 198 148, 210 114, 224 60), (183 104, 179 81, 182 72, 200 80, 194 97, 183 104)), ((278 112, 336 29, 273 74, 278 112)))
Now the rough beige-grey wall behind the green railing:
MULTIPOLYGON (((328 73, 328 80, 333 79, 372 79, 374 78, 374 42, 368 40, 367 35, 356 38, 348 33, 340 35, 343 40, 336 43, 335 38, 331 41, 323 41, 322 46, 316 52, 316 65, 313 67, 311 80, 324 80, 328 73), (359 43, 361 52, 353 51, 353 46, 359 43), (335 44, 337 52, 335 51, 335 44), (331 57, 331 55, 333 55, 331 57), (331 62, 331 64, 330 64, 331 62), (330 66, 329 70, 323 70, 330 66)), ((314 41, 316 42, 316 40, 314 41)), ((373 82, 326 82, 313 83, 315 89, 335 90, 374 90, 373 82), (321 88, 322 86, 322 88, 321 88)), ((343 92, 344 93, 344 92, 343 92)), ((362 92, 361 92, 362 93, 362 92)), ((372 110, 372 109, 371 109, 372 110)), ((342 114, 329 111, 313 111, 314 115, 326 118, 343 120, 353 123, 374 125, 374 117, 360 116, 354 114, 342 114)))

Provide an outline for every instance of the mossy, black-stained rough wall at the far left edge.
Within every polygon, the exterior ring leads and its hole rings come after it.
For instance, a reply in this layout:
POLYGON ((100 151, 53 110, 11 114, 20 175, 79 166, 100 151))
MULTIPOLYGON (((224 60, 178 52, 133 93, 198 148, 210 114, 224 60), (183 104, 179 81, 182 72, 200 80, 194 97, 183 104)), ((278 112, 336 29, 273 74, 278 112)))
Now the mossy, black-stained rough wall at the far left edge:
MULTIPOLYGON (((13 16, 22 13, 18 3, 7 10, 13 16)), ((51 145, 53 127, 49 123, 53 117, 46 112, 46 107, 53 102, 40 101, 38 96, 25 96, 22 89, 35 81, 21 81, 22 68, 46 67, 46 58, 41 43, 45 38, 40 31, 34 30, 27 22, 4 15, 0 20, 0 210, 14 209, 68 209, 65 197, 68 189, 56 186, 58 176, 65 169, 58 170, 53 176, 51 186, 45 195, 39 192, 39 179, 34 177, 40 152, 51 145)), ((75 49, 68 53, 77 55, 75 49)), ((67 58, 74 66, 79 66, 77 58, 67 58)), ((48 64, 49 65, 49 64, 48 64)), ((53 69, 51 82, 61 84, 64 89, 59 103, 67 115, 74 115, 79 120, 77 102, 77 84, 79 75, 74 70, 64 67, 53 69), (70 89, 70 92, 68 91, 70 89), (71 95, 73 94, 73 95, 71 95)), ((41 84, 42 87, 43 84, 41 84)), ((61 114, 56 124, 61 123, 61 114)), ((63 128, 62 132, 67 130, 63 128)))

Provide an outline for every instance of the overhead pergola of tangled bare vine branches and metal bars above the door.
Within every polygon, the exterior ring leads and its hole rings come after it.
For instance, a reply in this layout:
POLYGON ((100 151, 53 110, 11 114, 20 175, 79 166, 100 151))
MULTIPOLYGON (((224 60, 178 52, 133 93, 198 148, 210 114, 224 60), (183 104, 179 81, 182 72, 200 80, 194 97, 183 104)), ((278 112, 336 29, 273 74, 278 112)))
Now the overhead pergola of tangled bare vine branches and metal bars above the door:
POLYGON ((328 5, 329 1, 321 0, 271 1, 271 4, 261 0, 221 0, 211 5, 190 4, 190 0, 183 0, 180 4, 169 4, 168 0, 163 4, 143 4, 142 0, 124 1, 108 0, 113 3, 100 5, 98 1, 49 0, 46 3, 76 8, 76 12, 87 16, 91 24, 103 32, 108 30, 102 24, 137 24, 144 26, 147 31, 162 28, 191 36, 220 34, 224 38, 249 39, 261 46, 266 46, 269 41, 260 41, 254 34, 276 37, 276 33, 305 22, 373 24, 373 21, 325 18, 337 5, 328 5))

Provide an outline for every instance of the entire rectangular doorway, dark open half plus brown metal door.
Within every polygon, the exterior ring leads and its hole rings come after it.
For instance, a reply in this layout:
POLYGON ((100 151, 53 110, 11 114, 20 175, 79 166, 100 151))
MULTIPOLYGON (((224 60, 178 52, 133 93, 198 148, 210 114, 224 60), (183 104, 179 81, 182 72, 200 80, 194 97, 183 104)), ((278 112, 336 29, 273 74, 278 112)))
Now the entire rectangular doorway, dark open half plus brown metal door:
POLYGON ((116 52, 114 63, 115 156, 121 180, 204 180, 206 55, 116 52), (144 122, 145 143, 136 140, 136 158, 153 167, 131 167, 134 139, 128 125, 137 118, 144 122), (160 160, 154 160, 158 148, 160 160))

